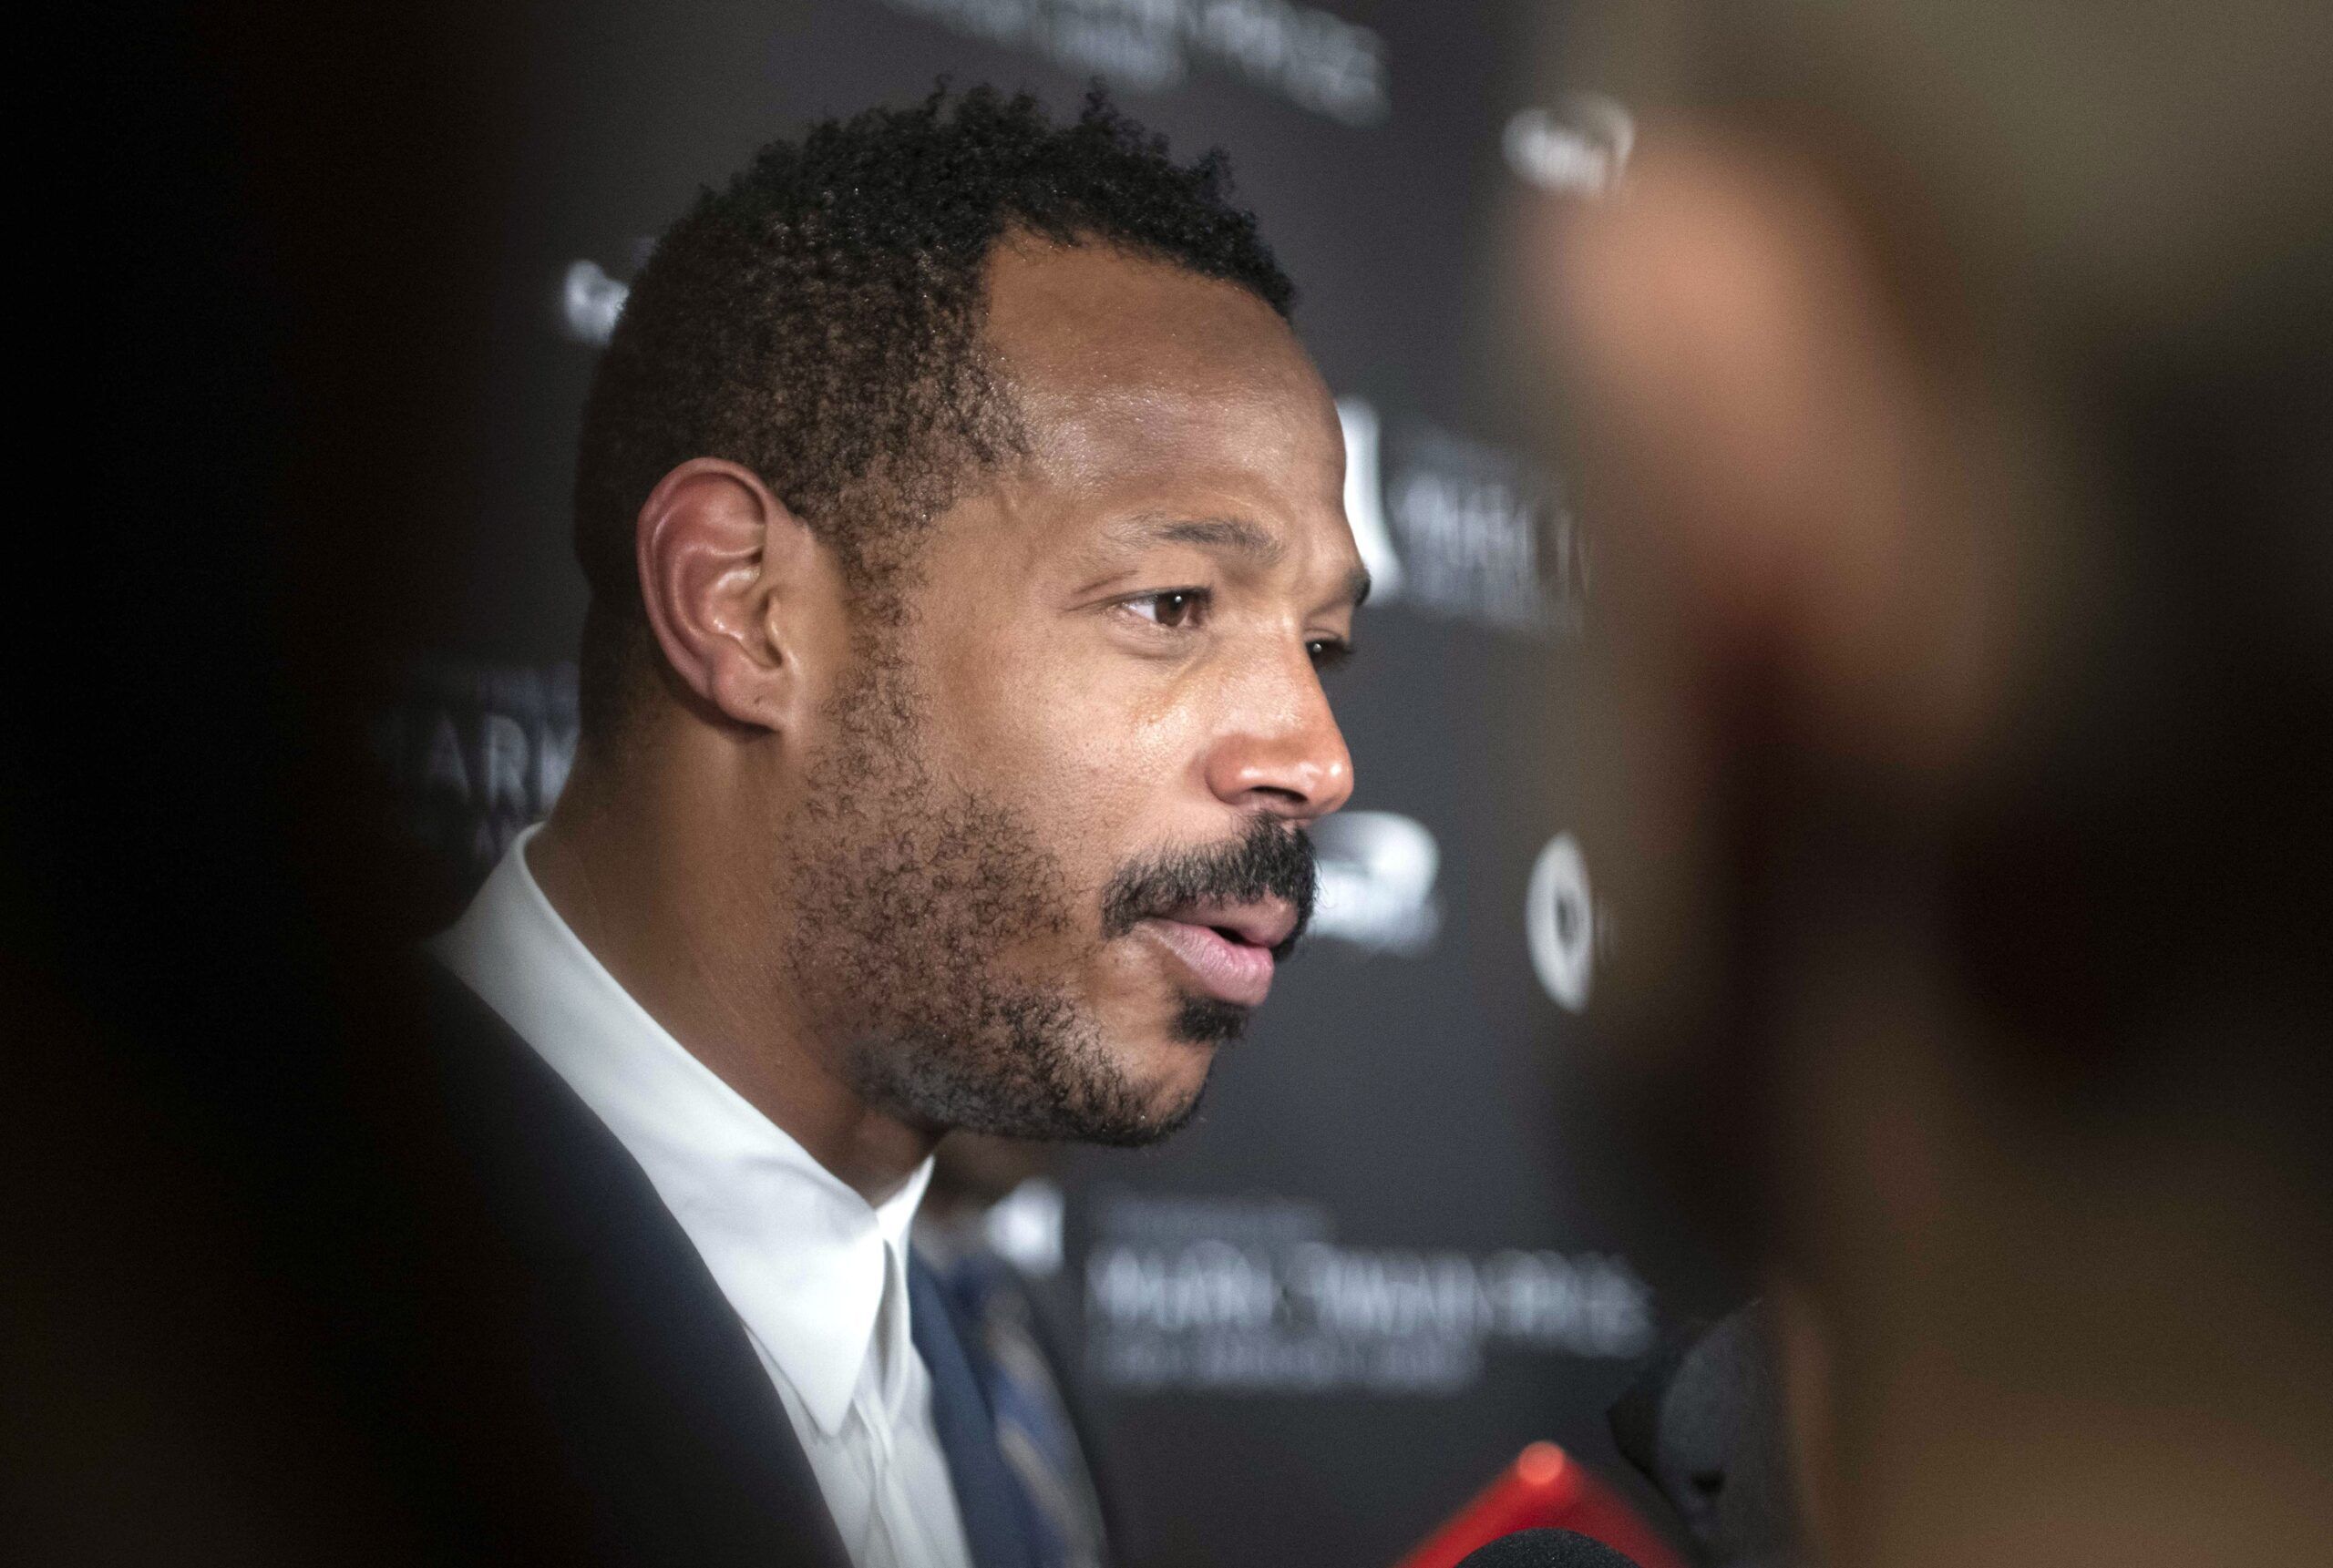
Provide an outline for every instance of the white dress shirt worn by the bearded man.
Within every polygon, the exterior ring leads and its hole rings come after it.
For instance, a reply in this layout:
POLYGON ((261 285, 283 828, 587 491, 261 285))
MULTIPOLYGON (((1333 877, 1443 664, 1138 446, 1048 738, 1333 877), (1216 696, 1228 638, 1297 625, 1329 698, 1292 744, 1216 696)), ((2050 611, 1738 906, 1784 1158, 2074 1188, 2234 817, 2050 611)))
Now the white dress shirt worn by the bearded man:
POLYGON ((429 950, 649 1174, 744 1323, 859 1568, 971 1568, 908 1335, 931 1162, 868 1206, 632 1001, 544 898, 518 835, 429 950))

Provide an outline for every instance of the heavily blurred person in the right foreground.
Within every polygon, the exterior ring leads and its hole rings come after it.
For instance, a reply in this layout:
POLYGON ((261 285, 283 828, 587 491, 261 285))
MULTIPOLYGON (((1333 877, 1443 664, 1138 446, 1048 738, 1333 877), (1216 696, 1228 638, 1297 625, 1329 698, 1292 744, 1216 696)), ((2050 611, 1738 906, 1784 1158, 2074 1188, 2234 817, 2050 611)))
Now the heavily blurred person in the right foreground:
POLYGON ((1754 1239, 1813 1549, 2324 1563, 2333 9, 1582 37, 1605 1066, 1754 1239))

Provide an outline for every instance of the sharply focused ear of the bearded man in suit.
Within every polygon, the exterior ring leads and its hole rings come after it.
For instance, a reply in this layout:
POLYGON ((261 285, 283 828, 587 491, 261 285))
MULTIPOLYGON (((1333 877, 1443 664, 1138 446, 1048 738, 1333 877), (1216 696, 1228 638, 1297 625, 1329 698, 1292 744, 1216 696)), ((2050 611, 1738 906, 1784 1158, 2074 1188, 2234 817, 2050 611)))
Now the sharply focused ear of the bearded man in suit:
POLYGON ((828 553, 751 471, 691 457, 639 509, 639 597, 665 663, 721 716, 786 730, 814 702, 840 583, 828 553))

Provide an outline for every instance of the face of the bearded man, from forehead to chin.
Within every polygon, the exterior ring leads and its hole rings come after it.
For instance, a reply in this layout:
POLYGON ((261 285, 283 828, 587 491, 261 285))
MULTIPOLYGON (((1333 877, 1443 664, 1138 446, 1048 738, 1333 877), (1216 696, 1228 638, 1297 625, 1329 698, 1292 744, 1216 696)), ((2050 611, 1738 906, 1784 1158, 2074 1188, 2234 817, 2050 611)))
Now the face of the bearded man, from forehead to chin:
POLYGON ((1180 268, 1008 245, 987 341, 1029 453, 828 702, 793 980, 905 1120, 1136 1143, 1264 999, 1353 789, 1344 448, 1285 322, 1180 268))

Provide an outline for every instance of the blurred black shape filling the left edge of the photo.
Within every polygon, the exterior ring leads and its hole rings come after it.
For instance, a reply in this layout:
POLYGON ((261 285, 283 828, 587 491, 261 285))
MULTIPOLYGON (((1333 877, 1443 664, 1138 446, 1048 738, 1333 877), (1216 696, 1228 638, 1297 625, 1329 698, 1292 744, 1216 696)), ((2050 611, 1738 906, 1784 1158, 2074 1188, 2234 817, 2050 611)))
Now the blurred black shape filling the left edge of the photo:
POLYGON ((35 70, 0 840, 12 1561, 467 1561, 355 1199, 399 931, 350 798, 373 562, 460 385, 506 35, 163 7, 35 70), (450 126, 460 126, 462 145, 450 126), (387 1414, 383 1414, 387 1412, 387 1414))

